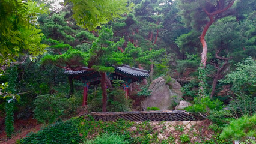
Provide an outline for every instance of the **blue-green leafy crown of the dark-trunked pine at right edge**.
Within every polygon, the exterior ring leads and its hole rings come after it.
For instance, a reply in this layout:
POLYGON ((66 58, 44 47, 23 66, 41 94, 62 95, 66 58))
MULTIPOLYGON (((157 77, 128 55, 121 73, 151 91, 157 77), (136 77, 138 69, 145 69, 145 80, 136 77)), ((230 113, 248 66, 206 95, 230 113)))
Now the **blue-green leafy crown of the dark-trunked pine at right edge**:
POLYGON ((206 35, 210 61, 223 63, 216 59, 216 50, 221 50, 219 56, 233 58, 229 62, 231 68, 234 62, 240 62, 243 58, 248 56, 255 58, 256 53, 252 50, 255 49, 255 44, 252 42, 255 38, 252 37, 250 31, 255 31, 256 23, 250 20, 251 14, 253 13, 248 13, 249 16, 244 20, 237 20, 237 16, 227 16, 210 26, 209 35, 206 35))

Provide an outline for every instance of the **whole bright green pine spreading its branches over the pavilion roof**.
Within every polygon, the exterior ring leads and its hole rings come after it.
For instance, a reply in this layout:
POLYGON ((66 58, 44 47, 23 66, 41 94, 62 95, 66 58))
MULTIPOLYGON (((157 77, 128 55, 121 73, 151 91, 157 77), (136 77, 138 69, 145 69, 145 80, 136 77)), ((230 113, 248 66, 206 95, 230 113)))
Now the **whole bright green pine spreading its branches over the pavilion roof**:
POLYGON ((114 71, 112 65, 121 65, 124 62, 132 61, 132 58, 130 58, 129 55, 126 55, 117 49, 117 47, 122 46, 124 40, 121 39, 121 41, 115 43, 114 41, 111 41, 112 35, 112 29, 103 27, 99 31, 99 37, 93 41, 89 50, 82 51, 69 47, 64 53, 53 53, 53 55, 47 54, 42 59, 43 63, 55 64, 65 70, 84 70, 84 67, 88 67, 89 69, 86 70, 99 71, 102 77, 103 112, 106 112, 106 72, 114 71))

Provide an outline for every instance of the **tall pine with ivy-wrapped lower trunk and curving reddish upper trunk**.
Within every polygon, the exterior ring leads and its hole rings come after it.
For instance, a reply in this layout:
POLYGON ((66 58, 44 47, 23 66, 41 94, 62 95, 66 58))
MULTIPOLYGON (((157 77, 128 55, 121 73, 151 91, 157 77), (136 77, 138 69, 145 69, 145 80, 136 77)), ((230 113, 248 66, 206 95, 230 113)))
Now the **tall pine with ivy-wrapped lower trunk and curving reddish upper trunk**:
POLYGON ((180 14, 183 16, 184 23, 187 26, 201 31, 200 42, 203 46, 200 62, 200 97, 206 95, 204 88, 205 74, 204 68, 207 61, 207 44, 205 40, 206 32, 210 28, 213 22, 221 17, 228 16, 230 11, 228 9, 234 4, 234 0, 179 0, 178 7, 180 8, 180 14), (203 29, 202 29, 203 27, 203 29), (201 30, 202 29, 202 30, 201 30))

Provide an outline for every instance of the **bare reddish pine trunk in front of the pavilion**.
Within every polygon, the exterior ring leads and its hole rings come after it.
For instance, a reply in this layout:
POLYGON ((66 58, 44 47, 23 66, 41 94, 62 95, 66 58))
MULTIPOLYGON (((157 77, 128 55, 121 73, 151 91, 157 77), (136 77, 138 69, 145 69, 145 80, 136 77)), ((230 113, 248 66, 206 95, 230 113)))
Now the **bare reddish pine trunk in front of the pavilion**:
POLYGON ((106 73, 100 73, 100 86, 102 87, 102 112, 106 112, 107 93, 106 93, 106 73))

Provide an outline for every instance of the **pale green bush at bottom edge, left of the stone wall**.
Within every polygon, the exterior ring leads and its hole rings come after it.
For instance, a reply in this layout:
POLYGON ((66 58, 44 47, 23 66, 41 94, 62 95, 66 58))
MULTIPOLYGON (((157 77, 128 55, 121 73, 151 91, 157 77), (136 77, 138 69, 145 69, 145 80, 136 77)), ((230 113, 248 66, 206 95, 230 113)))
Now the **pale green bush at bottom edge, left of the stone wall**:
POLYGON ((94 140, 87 140, 84 144, 126 144, 124 136, 120 136, 116 133, 103 133, 101 136, 97 136, 94 140))

